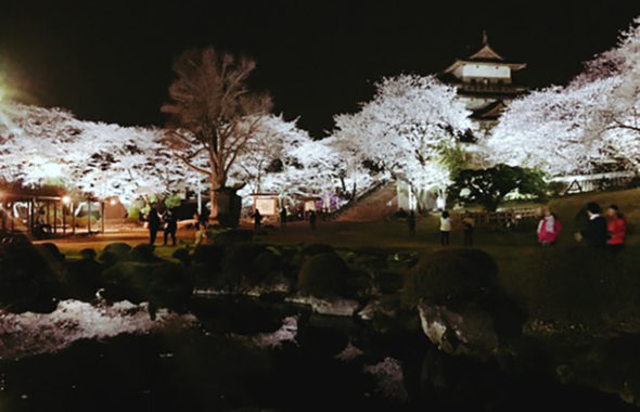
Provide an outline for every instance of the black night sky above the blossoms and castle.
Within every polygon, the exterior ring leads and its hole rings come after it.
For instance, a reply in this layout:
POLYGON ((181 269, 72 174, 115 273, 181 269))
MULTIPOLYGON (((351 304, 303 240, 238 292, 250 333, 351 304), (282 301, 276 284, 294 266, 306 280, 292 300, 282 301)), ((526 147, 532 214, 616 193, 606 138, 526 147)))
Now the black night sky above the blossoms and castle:
POLYGON ((214 46, 254 57, 255 87, 318 137, 381 76, 441 70, 479 46, 483 28, 499 53, 529 63, 522 82, 543 87, 565 83, 640 15, 640 0, 21 3, 2 4, 0 69, 23 99, 162 126, 171 61, 214 46))

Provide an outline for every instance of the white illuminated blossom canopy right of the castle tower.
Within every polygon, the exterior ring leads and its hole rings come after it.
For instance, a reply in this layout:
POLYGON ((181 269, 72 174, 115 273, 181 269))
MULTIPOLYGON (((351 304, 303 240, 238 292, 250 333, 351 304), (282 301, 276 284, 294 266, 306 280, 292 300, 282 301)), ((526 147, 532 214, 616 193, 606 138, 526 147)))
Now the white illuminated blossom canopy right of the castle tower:
POLYGON ((640 166, 640 18, 566 87, 514 101, 488 139, 496 163, 550 176, 640 166))

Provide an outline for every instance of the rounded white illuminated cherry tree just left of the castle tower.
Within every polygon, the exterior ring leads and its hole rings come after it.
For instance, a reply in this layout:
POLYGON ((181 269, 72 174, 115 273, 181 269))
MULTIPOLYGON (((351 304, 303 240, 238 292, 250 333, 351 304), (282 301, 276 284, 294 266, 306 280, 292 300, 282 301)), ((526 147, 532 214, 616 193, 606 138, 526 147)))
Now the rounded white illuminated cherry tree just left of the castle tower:
POLYGON ((334 144, 348 162, 409 183, 424 207, 427 191, 444 194, 450 182, 443 150, 472 127, 469 115, 456 89, 432 76, 385 78, 360 112, 335 117, 334 144))

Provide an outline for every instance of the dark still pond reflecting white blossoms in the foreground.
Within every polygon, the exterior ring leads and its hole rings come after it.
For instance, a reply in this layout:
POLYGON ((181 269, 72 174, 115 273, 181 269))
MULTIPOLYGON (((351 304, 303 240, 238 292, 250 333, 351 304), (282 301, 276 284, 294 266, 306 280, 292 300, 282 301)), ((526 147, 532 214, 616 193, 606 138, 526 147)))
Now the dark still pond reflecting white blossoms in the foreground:
POLYGON ((4 322, 0 411, 633 410, 549 376, 447 357, 419 332, 381 334, 294 305, 197 298, 196 322, 162 326, 125 308, 103 313, 113 330, 94 333, 104 319, 78 325, 82 310, 31 319, 33 330, 4 322))

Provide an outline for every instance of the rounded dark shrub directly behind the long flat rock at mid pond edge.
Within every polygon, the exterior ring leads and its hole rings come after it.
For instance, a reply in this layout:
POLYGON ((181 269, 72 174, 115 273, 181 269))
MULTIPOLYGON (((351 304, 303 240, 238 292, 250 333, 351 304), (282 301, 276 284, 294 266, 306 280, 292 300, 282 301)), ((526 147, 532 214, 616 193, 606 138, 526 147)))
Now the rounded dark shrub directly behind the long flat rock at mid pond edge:
POLYGON ((347 289, 349 268, 334 253, 318 254, 303 265, 298 275, 298 289, 303 295, 316 297, 350 297, 347 289))

